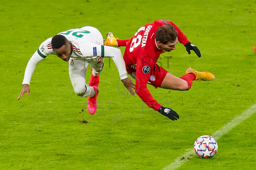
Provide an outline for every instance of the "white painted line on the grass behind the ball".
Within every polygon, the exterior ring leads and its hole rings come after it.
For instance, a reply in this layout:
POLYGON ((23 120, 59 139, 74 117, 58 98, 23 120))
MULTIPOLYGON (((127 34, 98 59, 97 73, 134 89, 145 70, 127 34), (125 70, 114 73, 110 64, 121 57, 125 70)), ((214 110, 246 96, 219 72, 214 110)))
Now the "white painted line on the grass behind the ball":
MULTIPOLYGON (((241 115, 238 115, 233 120, 225 124, 220 130, 216 131, 212 134, 212 137, 218 140, 221 138, 224 134, 231 131, 233 127, 235 127, 237 124, 242 123, 245 119, 249 118, 253 113, 256 112, 256 104, 252 105, 249 109, 245 110, 241 115)), ((188 152, 183 154, 181 157, 178 157, 172 162, 170 165, 164 167, 163 170, 174 170, 183 165, 185 162, 187 162, 189 159, 191 159, 195 155, 194 149, 190 149, 188 152)))

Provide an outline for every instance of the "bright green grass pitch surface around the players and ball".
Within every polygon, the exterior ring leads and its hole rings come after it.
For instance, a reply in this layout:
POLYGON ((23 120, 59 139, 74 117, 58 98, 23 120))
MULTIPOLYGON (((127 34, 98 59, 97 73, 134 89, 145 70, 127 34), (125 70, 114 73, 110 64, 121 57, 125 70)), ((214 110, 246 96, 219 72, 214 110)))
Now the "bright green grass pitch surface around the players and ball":
MULTIPOLYGON (((196 138, 212 135, 256 103, 255 18, 255 0, 1 1, 0 169, 162 170, 196 138), (178 43, 161 55, 172 56, 169 63, 159 60, 162 66, 176 76, 192 67, 216 77, 194 81, 188 91, 148 86, 157 101, 177 111, 178 121, 148 110, 138 96, 120 94, 117 68, 108 59, 95 115, 82 111, 87 98, 76 96, 68 63, 54 55, 36 66, 30 96, 17 100, 28 60, 45 39, 86 25, 103 37, 113 32, 128 39, 158 19, 178 25, 202 54, 188 55, 178 43)), ((255 169, 255 124, 253 114, 217 141, 212 159, 194 155, 178 169, 255 169)))

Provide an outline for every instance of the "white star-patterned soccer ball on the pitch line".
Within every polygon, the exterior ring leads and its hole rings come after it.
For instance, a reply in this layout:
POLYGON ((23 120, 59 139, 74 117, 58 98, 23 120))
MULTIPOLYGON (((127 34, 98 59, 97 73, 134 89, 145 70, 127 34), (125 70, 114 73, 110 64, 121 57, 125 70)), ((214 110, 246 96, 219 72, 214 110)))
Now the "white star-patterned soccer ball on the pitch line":
POLYGON ((217 150, 217 141, 209 135, 200 136, 194 143, 194 151, 200 158, 212 158, 217 150))

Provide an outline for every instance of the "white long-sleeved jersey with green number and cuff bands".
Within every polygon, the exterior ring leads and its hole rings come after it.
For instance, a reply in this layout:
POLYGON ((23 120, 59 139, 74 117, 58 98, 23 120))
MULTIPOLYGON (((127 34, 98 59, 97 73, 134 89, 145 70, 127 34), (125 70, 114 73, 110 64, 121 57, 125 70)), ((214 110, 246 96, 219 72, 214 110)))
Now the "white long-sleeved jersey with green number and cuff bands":
MULTIPOLYGON (((103 46, 103 38, 100 32, 91 26, 85 26, 83 28, 75 28, 59 34, 65 36, 71 43, 71 54, 69 63, 69 71, 76 71, 84 69, 85 62, 96 62, 102 64, 104 57, 111 57, 121 79, 127 78, 125 63, 122 58, 122 54, 116 53, 116 48, 110 46, 103 46), (113 49, 114 48, 114 49, 113 49), (113 53, 113 51, 115 51, 113 53), (120 57, 121 55, 121 57, 120 57)), ((35 70, 36 64, 50 54, 55 54, 51 44, 52 38, 46 39, 34 53, 28 62, 24 79, 22 84, 30 84, 31 76, 35 70)), ((97 66, 96 66, 97 67, 97 66)))

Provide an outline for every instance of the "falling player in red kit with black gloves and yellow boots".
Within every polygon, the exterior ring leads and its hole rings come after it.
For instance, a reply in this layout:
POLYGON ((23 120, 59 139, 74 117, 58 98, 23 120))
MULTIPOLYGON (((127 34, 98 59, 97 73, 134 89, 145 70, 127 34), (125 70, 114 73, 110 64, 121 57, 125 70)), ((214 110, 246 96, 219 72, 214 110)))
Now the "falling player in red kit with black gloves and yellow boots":
POLYGON ((171 21, 157 20, 144 25, 132 39, 115 39, 112 33, 107 35, 105 45, 126 46, 124 62, 127 73, 136 79, 137 95, 148 107, 172 120, 177 120, 179 115, 171 108, 165 108, 159 104, 148 91, 147 83, 155 88, 188 90, 193 80, 210 81, 215 78, 209 72, 197 72, 191 68, 185 71, 185 75, 178 78, 156 64, 161 53, 176 49, 178 41, 186 47, 189 54, 190 50, 193 50, 198 57, 201 57, 199 49, 191 44, 183 32, 171 21))

